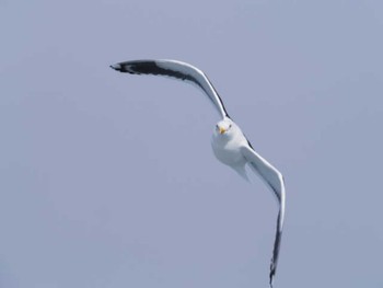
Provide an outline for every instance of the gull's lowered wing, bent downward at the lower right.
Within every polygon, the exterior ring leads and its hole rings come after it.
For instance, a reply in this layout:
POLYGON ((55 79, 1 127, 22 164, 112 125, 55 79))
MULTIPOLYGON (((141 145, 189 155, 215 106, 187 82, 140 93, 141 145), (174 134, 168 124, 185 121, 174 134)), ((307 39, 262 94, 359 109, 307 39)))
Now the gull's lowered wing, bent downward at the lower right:
POLYGON ((285 218, 285 182, 282 174, 262 158, 254 149, 249 146, 243 146, 241 148, 242 154, 248 161, 253 170, 266 182, 271 188, 279 204, 279 214, 277 219, 277 233, 274 242, 272 258, 270 265, 270 287, 272 287, 274 276, 276 274, 280 241, 283 230, 283 218, 285 218))

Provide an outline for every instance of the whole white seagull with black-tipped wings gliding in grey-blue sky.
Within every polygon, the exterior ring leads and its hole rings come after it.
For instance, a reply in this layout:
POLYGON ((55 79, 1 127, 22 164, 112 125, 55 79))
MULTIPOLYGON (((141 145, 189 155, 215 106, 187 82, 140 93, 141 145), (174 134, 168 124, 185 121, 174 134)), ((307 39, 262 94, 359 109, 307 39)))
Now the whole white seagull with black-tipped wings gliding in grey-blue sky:
POLYGON ((269 285, 272 288, 285 219, 286 193, 282 174, 253 149, 241 128, 229 116, 221 97, 208 77, 198 68, 177 60, 132 60, 112 65, 111 68, 131 74, 165 76, 183 80, 196 85, 209 97, 222 118, 214 126, 211 138, 216 158, 223 164, 231 166, 246 180, 245 168, 249 166, 274 193, 279 205, 269 273, 269 285))

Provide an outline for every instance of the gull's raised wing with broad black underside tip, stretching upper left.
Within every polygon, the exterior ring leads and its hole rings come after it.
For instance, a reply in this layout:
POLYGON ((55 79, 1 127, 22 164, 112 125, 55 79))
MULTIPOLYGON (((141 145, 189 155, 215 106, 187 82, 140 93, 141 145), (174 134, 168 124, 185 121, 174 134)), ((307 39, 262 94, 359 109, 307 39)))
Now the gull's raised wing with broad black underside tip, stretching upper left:
POLYGON ((134 60, 112 65, 111 68, 131 74, 169 76, 196 84, 208 95, 222 118, 229 117, 221 97, 218 95, 208 77, 189 64, 176 60, 134 60))

